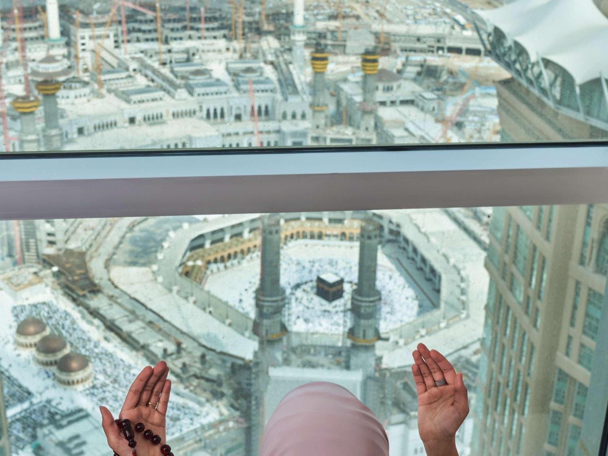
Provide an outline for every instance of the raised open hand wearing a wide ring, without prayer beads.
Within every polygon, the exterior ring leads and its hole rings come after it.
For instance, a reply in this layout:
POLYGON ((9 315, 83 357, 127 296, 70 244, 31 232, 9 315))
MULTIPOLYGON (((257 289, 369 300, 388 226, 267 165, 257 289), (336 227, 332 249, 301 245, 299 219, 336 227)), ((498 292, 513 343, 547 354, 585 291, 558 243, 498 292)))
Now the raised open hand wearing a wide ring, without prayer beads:
POLYGON ((458 455, 455 435, 469 413, 462 373, 437 350, 418 344, 412 353, 412 373, 418 393, 418 432, 428 456, 458 455), (445 379, 447 384, 435 385, 445 379))

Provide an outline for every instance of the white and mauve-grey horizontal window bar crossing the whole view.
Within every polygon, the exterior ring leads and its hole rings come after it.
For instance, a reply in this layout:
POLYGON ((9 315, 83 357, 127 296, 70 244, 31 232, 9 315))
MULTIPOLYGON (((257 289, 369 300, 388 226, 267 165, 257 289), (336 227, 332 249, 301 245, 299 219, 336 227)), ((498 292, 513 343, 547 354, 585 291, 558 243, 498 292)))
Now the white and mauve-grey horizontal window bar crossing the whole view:
POLYGON ((4 154, 0 219, 608 202, 607 142, 167 152, 4 154))

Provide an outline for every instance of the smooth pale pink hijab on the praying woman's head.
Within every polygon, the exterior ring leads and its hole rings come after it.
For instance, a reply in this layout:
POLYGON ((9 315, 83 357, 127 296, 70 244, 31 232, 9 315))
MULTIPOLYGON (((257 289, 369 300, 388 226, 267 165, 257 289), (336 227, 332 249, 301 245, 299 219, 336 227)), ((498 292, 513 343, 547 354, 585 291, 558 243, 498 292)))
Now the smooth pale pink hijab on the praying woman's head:
POLYGON ((350 391, 313 382, 289 392, 272 413, 260 456, 388 456, 389 438, 350 391))

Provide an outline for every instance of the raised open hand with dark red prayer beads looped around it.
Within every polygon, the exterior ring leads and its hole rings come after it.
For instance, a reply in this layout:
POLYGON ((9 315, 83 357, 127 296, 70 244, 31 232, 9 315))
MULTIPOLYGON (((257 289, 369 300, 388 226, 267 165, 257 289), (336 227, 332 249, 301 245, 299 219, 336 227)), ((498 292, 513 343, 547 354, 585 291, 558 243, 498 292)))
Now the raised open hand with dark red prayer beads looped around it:
MULTIPOLYGON (((133 427, 137 423, 143 423, 145 429, 150 429, 154 434, 161 436, 161 444, 167 443, 165 415, 171 393, 171 381, 167 380, 168 373, 169 368, 164 361, 160 361, 154 368, 144 367, 126 393, 119 415, 120 420, 130 420, 133 427), (148 404, 157 404, 157 407, 148 404)), ((99 410, 102 412, 102 427, 109 447, 119 456, 131 456, 128 441, 116 426, 112 413, 103 406, 99 407, 99 410)), ((136 433, 135 440, 137 456, 161 454, 160 445, 153 445, 150 440, 143 438, 143 434, 136 433)))

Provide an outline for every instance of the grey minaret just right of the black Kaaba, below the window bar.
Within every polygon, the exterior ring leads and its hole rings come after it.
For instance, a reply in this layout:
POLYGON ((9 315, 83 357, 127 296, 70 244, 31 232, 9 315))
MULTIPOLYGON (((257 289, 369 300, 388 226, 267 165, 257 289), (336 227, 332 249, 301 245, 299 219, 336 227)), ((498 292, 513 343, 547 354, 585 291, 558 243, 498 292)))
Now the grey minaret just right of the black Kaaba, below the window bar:
POLYGON ((367 376, 373 373, 374 343, 378 340, 380 292, 376 289, 380 225, 361 221, 359 233, 359 280, 351 297, 352 325, 348 330, 351 346, 351 369, 361 368, 367 376))

